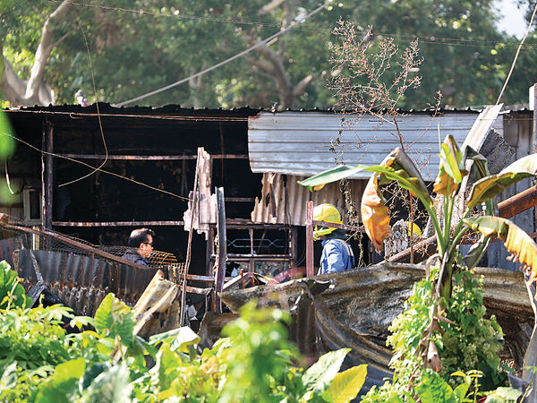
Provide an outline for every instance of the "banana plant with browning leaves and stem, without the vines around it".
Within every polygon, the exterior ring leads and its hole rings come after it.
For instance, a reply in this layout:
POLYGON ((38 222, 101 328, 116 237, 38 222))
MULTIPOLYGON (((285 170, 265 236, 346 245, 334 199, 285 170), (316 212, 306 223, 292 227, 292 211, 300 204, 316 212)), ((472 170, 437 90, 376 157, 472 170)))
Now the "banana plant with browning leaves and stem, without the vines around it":
MULTIPOLYGON (((378 166, 340 165, 300 182, 312 191, 319 190, 324 184, 352 176, 359 171, 371 172, 371 178, 362 194, 362 223, 367 236, 379 252, 382 250, 383 241, 392 234, 389 226, 389 210, 382 196, 381 186, 396 181, 400 187, 407 189, 413 197, 422 201, 436 233, 440 262, 435 297, 441 301, 441 305, 438 307, 435 304, 429 327, 430 332, 438 329, 438 322, 444 320, 441 313, 448 309, 446 304, 451 296, 454 273, 456 270, 472 269, 480 261, 490 244, 491 237, 499 237, 506 245, 507 251, 522 264, 523 270, 528 275, 527 287, 530 287, 537 279, 537 244, 513 222, 494 216, 497 210, 495 196, 503 192, 510 184, 515 184, 526 177, 536 176, 537 154, 518 159, 499 174, 490 175, 487 160, 482 155, 470 147, 466 147, 464 152, 461 151, 453 136, 447 135, 444 142, 440 144, 439 156, 439 175, 434 181, 433 193, 443 196, 443 217, 437 215, 433 206, 433 197, 420 171, 400 148, 393 150, 378 166), (471 188, 462 216, 454 222, 456 196, 461 192, 461 184, 465 176, 469 174, 465 169, 468 159, 473 160, 471 169, 477 181, 471 188), (460 264, 456 259, 459 253, 458 244, 468 231, 481 233, 481 238, 473 244, 465 256, 464 264, 460 264)), ((441 366, 438 361, 435 362, 436 347, 428 339, 430 338, 425 334, 422 347, 423 363, 427 367, 438 369, 441 366)), ((438 357, 438 354, 436 356, 438 357)))

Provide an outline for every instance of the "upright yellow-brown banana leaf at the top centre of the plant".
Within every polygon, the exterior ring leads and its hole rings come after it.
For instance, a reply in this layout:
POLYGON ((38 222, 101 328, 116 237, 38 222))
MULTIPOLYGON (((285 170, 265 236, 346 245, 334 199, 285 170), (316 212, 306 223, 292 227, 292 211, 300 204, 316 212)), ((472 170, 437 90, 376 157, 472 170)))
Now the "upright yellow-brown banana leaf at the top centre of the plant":
POLYGON ((440 145, 439 175, 433 184, 433 191, 444 196, 455 194, 463 177, 468 175, 465 169, 465 159, 459 149, 455 138, 447 134, 446 139, 440 145), (449 188, 449 194, 447 194, 449 188))

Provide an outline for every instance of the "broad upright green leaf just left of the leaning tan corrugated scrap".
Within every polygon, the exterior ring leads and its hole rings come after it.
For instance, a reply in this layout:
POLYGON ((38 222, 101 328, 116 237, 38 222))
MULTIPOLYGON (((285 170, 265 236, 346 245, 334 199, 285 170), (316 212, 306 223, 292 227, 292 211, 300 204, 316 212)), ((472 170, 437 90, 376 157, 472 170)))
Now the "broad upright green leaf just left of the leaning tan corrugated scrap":
POLYGON ((108 338, 119 336, 125 346, 131 347, 136 321, 131 308, 110 293, 101 302, 95 313, 95 329, 108 338))

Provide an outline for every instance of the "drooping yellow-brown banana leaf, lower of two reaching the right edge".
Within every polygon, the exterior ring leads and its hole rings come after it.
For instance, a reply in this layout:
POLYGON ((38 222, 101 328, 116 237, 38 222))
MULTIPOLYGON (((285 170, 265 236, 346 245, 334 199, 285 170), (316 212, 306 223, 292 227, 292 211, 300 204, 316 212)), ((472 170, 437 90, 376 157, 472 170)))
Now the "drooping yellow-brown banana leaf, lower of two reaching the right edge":
POLYGON ((524 229, 509 219, 490 216, 465 219, 465 224, 484 236, 498 236, 506 245, 507 251, 514 256, 515 262, 520 262, 523 270, 529 271, 528 283, 537 279, 537 244, 524 229))

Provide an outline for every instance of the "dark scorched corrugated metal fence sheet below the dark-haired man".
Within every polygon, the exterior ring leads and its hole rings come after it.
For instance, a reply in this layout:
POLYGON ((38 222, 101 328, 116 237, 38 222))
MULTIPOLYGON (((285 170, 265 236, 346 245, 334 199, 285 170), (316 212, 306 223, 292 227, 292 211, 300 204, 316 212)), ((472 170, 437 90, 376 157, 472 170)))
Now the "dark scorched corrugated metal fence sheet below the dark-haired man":
MULTIPOLYGON (((47 288, 72 307, 74 313, 80 315, 93 316, 108 293, 114 293, 132 306, 158 271, 153 268, 138 269, 74 253, 33 252, 47 288)), ((30 253, 25 249, 16 253, 17 271, 28 289, 37 282, 30 253)))

